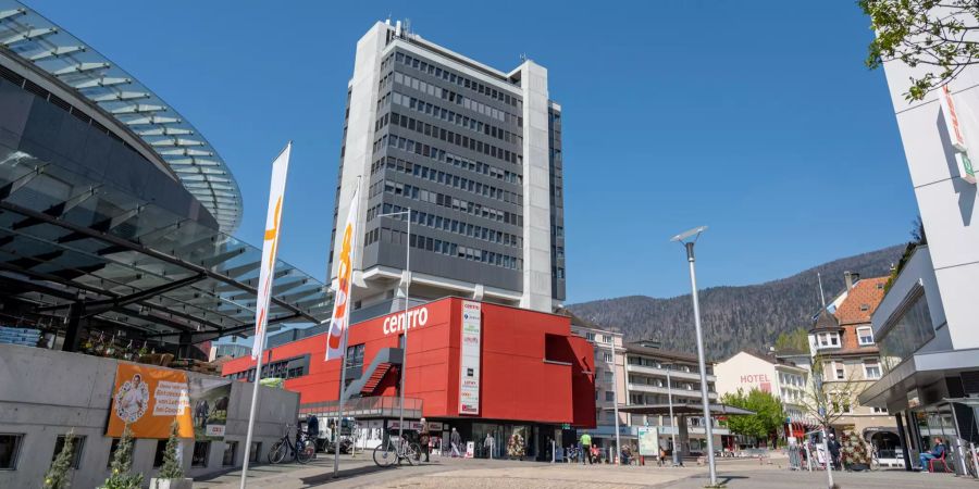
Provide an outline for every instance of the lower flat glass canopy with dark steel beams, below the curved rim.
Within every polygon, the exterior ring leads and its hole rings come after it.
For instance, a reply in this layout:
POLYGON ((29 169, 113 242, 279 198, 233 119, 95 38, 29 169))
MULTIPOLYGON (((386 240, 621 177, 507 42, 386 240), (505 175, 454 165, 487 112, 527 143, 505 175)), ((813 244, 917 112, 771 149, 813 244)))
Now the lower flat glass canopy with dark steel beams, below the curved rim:
MULTIPOLYGON (((0 146, 0 288, 63 316, 173 341, 251 335, 261 250, 150 202, 0 146)), ((278 261, 270 330, 320 324, 326 286, 278 261)))

